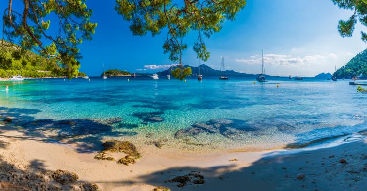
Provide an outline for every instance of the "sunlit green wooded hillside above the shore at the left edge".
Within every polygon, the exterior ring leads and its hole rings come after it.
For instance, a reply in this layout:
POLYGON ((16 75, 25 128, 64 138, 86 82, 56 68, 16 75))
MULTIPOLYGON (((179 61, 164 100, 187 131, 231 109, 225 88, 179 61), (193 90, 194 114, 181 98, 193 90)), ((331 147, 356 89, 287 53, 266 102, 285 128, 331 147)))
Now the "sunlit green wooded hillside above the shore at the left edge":
MULTIPOLYGON (((0 40, 0 77, 11 78, 13 75, 23 77, 58 77, 65 76, 62 68, 57 69, 46 58, 18 47, 8 41, 0 40), (49 72, 39 72, 49 71, 49 72)), ((85 74, 80 73, 80 76, 85 74)))

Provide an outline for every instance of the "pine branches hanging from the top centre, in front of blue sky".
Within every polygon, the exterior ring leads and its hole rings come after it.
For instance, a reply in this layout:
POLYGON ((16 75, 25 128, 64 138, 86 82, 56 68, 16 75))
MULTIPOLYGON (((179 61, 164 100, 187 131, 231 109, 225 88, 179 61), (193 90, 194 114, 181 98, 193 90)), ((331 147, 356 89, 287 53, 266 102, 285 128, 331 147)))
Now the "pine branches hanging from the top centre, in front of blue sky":
MULTIPOLYGON (((130 30, 134 35, 150 32, 154 36, 166 29, 164 53, 169 53, 169 58, 182 66, 182 51, 187 48, 182 39, 190 31, 198 31, 193 49, 198 58, 206 61, 210 53, 201 34, 209 38, 219 32, 224 21, 234 20, 245 5, 246 0, 184 0, 182 3, 174 0, 116 0, 115 10, 131 23, 130 30)), ((175 74, 184 79, 184 73, 191 74, 188 71, 176 71, 175 74)))

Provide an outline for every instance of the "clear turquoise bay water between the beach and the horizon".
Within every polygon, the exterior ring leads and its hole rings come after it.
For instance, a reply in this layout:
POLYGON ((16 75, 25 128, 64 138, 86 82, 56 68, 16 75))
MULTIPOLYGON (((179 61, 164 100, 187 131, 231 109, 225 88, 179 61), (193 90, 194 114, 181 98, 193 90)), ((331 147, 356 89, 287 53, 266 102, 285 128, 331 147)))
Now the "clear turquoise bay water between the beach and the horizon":
POLYGON ((0 91, 0 111, 16 115, 20 125, 121 117, 111 129, 80 123, 86 125, 80 131, 141 145, 163 140, 166 148, 188 152, 264 150, 367 129, 367 94, 357 93, 347 80, 274 78, 253 84, 247 78, 184 83, 110 77, 2 82, 0 89, 5 84, 9 91, 0 91))

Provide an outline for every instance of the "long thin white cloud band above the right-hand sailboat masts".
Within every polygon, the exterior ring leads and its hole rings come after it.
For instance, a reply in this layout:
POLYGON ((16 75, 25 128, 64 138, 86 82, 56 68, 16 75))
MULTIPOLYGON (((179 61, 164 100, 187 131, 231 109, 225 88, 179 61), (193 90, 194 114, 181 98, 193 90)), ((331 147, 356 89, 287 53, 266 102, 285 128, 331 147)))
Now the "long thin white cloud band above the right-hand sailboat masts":
MULTIPOLYGON (((264 55, 264 63, 271 64, 275 66, 290 66, 290 67, 299 67, 306 65, 308 63, 314 63, 319 61, 323 56, 313 55, 313 56, 305 56, 305 57, 292 57, 290 55, 281 55, 281 54, 266 54, 264 55)), ((245 64, 261 64, 260 56, 251 56, 250 59, 234 59, 235 62, 241 62, 245 64)))

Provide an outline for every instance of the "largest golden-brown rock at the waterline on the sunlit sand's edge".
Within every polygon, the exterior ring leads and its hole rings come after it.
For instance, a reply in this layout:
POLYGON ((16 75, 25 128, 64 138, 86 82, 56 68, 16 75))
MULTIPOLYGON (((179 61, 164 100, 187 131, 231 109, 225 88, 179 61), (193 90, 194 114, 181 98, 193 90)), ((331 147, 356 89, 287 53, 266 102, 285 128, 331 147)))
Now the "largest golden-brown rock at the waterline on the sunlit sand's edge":
POLYGON ((117 141, 115 139, 112 139, 103 143, 102 146, 103 152, 123 152, 136 159, 141 157, 135 145, 129 141, 117 141))

